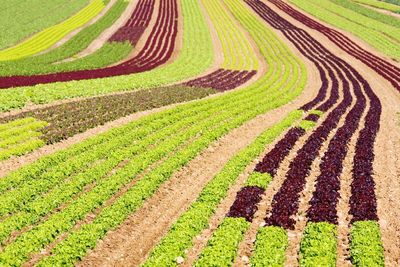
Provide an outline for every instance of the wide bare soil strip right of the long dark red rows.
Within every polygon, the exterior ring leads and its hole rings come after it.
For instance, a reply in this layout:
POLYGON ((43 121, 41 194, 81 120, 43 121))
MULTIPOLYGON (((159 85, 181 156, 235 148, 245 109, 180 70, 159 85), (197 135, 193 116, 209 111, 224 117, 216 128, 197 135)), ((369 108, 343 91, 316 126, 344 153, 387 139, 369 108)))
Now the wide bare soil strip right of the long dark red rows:
MULTIPOLYGON (((399 115, 397 114, 400 112, 400 95, 398 91, 374 70, 345 53, 321 33, 308 29, 274 5, 268 3, 267 5, 295 26, 307 31, 333 54, 348 62, 363 75, 381 100, 381 127, 375 143, 374 181, 376 183, 378 216, 381 225, 382 241, 385 248, 386 265, 399 265, 400 223, 398 218, 400 217, 400 206, 398 205, 398 199, 400 199, 400 180, 396 179, 400 177, 400 155, 398 153, 398 151, 400 151, 400 126, 398 123, 399 115)), ((292 7, 294 6, 292 5, 292 7)), ((329 25, 329 27, 332 26, 329 25)), ((355 39, 348 33, 345 34, 350 36, 353 40, 355 39)), ((359 45, 363 46, 363 44, 360 43, 359 45)), ((363 48, 366 48, 365 45, 363 48)), ((369 49, 369 51, 371 51, 371 49, 369 49)), ((398 63, 394 63, 393 60, 391 62, 395 65, 399 65, 398 63)), ((351 166, 347 165, 346 167, 351 168, 351 166)))

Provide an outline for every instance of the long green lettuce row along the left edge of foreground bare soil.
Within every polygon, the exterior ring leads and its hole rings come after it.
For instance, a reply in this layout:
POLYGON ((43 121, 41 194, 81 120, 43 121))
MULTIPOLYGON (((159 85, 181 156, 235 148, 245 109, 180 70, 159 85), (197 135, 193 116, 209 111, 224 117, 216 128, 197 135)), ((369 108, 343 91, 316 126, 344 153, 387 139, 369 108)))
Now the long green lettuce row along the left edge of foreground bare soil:
MULTIPOLYGON (((247 116, 251 116, 250 114, 247 116)), ((157 188, 171 175, 192 160, 202 149, 209 146, 219 136, 242 124, 248 117, 237 116, 236 119, 213 131, 206 132, 184 150, 168 158, 151 173, 139 180, 126 194, 117 199, 111 206, 102 210, 93 223, 85 224, 72 232, 65 240, 52 250, 52 256, 45 257, 38 266, 72 265, 81 259, 88 249, 93 248, 97 240, 121 224, 130 213, 137 210, 157 188), (68 251, 68 253, 66 253, 68 251)), ((7 248, 6 248, 7 249, 7 248)))

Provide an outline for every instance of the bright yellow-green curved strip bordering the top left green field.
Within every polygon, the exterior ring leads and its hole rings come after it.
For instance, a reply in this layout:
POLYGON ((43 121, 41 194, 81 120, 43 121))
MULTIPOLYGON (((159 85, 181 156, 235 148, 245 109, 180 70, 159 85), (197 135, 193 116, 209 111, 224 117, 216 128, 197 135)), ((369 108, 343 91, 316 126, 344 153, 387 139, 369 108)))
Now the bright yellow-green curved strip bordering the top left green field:
POLYGON ((71 31, 85 25, 105 7, 104 0, 94 0, 76 15, 47 28, 28 40, 0 51, 0 61, 15 60, 37 54, 53 46, 71 31))

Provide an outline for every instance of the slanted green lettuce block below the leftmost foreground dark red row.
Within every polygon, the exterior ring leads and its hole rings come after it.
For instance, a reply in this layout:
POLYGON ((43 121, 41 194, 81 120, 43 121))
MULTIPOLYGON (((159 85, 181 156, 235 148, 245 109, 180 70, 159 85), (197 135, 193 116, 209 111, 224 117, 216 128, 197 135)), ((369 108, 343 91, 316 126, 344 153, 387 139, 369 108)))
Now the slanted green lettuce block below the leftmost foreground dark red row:
POLYGON ((249 227, 250 222, 245 218, 225 218, 194 266, 232 266, 239 243, 249 227))

